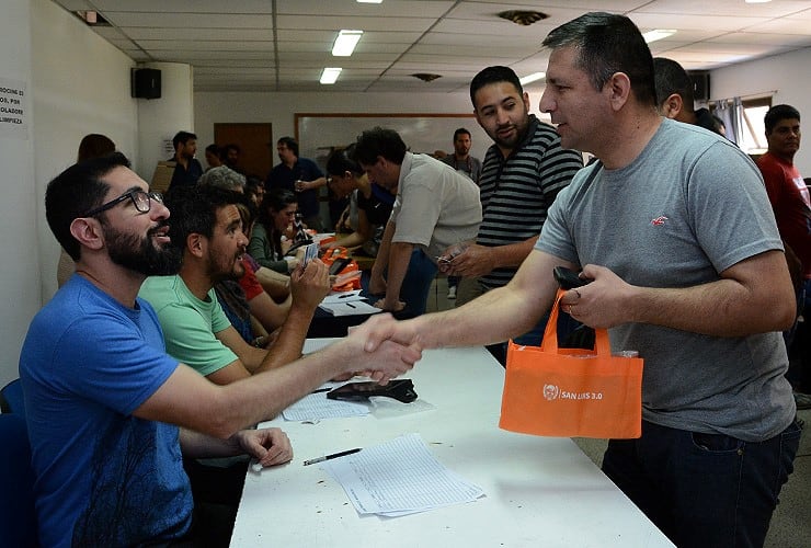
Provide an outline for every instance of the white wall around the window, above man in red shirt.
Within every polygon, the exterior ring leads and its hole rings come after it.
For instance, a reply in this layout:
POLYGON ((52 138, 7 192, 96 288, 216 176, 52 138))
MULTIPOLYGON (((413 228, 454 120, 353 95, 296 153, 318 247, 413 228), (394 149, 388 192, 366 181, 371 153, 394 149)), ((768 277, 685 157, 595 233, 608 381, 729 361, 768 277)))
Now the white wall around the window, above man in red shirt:
MULTIPOLYGON (((811 136, 811 48, 742 62, 710 72, 711 99, 756 95, 776 91, 772 104, 790 104, 802 116, 811 136)), ((811 176, 811 138, 806 137, 795 164, 803 176, 811 176)))

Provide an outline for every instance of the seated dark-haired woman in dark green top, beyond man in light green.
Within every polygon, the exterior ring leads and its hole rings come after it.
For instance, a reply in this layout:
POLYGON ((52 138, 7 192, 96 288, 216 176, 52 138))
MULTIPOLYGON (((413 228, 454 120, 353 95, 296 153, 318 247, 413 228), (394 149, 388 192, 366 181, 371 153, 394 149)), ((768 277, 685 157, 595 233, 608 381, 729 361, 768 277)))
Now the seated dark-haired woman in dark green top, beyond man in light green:
POLYGON ((262 266, 289 274, 298 259, 285 254, 293 242, 293 221, 298 210, 296 195, 286 189, 272 189, 265 193, 259 220, 248 243, 248 253, 262 266))

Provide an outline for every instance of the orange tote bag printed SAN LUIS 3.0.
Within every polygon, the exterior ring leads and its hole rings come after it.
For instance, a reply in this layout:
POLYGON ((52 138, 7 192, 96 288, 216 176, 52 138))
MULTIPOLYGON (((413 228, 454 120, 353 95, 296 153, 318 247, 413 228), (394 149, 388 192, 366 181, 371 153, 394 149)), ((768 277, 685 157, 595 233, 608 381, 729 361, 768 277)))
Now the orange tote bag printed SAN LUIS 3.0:
POLYGON ((499 426, 558 437, 642 435, 642 359, 613 356, 608 332, 594 350, 558 347, 558 292, 540 347, 510 341, 499 426))

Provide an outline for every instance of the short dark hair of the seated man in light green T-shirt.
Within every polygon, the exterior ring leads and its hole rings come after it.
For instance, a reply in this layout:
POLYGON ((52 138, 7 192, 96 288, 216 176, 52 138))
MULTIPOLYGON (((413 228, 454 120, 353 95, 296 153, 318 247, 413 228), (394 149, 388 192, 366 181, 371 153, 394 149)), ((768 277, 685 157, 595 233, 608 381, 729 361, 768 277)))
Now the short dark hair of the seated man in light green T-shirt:
POLYGON ((207 184, 193 184, 172 187, 163 203, 171 212, 169 237, 172 246, 185 250, 190 235, 214 236, 217 225, 217 210, 239 204, 244 196, 207 184))

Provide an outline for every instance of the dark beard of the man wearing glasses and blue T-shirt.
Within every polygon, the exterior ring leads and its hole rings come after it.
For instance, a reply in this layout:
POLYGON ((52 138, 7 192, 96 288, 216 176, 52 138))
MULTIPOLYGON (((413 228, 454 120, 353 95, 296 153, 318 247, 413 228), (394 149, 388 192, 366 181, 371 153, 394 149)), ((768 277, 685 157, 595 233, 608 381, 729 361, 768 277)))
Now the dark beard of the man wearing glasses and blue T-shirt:
POLYGON ((104 240, 107 242, 110 260, 119 266, 145 276, 168 276, 180 271, 182 254, 174 246, 157 248, 152 235, 158 227, 149 230, 146 238, 126 233, 104 226, 104 240))

